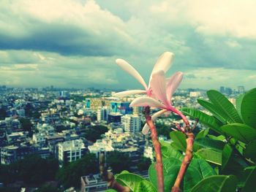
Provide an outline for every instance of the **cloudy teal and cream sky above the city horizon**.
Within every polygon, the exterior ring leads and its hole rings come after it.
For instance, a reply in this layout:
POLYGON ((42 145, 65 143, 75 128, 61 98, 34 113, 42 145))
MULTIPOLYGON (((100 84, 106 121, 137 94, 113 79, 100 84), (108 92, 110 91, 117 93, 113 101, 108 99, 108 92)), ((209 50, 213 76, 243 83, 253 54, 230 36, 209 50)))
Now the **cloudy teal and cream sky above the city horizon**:
POLYGON ((256 87, 255 0, 1 0, 0 85, 140 88, 175 53, 181 88, 256 87))

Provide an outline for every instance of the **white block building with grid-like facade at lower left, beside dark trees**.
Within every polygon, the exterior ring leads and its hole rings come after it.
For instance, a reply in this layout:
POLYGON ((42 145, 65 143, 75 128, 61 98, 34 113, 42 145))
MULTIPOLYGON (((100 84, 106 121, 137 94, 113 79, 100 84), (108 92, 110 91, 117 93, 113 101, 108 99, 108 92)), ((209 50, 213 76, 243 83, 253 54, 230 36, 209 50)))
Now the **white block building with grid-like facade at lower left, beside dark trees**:
POLYGON ((75 139, 58 144, 59 164, 76 161, 86 154, 86 146, 82 139, 75 139))

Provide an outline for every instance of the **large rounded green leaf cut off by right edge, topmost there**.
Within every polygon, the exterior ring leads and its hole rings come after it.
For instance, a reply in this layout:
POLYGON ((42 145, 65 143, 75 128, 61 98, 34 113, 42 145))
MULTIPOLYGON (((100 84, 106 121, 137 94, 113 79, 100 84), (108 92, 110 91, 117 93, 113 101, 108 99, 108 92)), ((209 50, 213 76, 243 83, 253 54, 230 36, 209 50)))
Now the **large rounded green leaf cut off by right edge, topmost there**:
POLYGON ((256 128, 256 88, 245 93, 241 101, 241 115, 246 125, 256 128))

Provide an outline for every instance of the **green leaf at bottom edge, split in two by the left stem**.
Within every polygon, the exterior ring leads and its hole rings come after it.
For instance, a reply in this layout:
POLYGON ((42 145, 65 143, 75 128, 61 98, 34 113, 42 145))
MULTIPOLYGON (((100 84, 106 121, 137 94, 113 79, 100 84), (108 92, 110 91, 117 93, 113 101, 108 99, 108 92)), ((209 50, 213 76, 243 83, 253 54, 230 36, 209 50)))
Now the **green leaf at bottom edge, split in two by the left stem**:
MULTIPOLYGON (((181 161, 177 158, 165 158, 162 160, 163 174, 165 178, 165 191, 170 191, 178 175, 181 161)), ((153 183, 154 187, 157 188, 157 171, 155 169, 155 163, 151 164, 148 169, 148 176, 153 183)))

